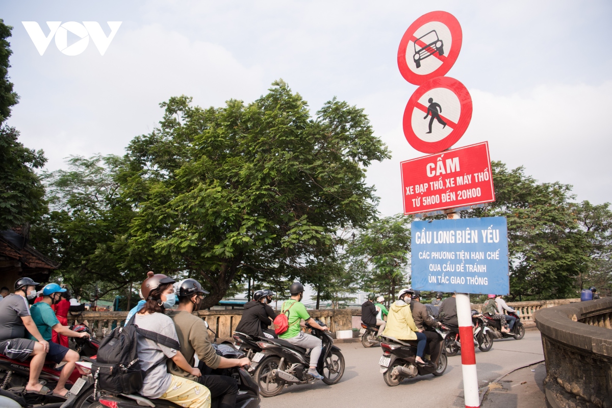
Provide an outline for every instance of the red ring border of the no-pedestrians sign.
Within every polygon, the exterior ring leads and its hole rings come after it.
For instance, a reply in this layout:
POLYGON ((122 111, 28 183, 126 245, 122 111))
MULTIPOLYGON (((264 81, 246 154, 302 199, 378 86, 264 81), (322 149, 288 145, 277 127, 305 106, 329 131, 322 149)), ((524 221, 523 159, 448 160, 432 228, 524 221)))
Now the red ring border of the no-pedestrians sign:
POLYGON ((461 139, 461 136, 463 136, 465 131, 468 130, 468 125, 471 120, 472 97, 469 95, 468 89, 465 87, 465 85, 455 80, 455 78, 450 78, 449 76, 439 76, 438 78, 432 78, 414 91, 414 94, 412 94, 408 100, 408 103, 406 104, 406 108, 404 109, 402 125, 404 128, 404 136, 406 136, 406 140, 410 146, 423 153, 439 153, 449 149, 449 147, 453 146, 453 144, 457 143, 459 139, 461 139), (433 88, 446 88, 457 95, 461 104, 461 113, 459 116, 459 121, 457 122, 457 127, 454 128, 452 132, 446 136, 446 138, 437 142, 426 142, 419 139, 412 130, 412 111, 414 110, 414 106, 419 98, 422 97, 425 92, 433 88))

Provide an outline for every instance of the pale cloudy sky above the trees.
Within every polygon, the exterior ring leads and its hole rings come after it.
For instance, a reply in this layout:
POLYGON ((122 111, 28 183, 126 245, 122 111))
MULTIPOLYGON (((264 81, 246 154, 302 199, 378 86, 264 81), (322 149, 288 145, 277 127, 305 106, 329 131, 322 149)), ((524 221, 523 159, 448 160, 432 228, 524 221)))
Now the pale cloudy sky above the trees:
MULTIPOLYGON (((124 154, 157 126, 159 103, 172 96, 204 107, 251 102, 283 78, 313 114, 334 96, 365 109, 392 152, 368 168, 367 181, 381 215, 394 215, 402 212, 399 163, 423 155, 401 127, 416 86, 400 75, 398 45, 433 10, 452 13, 463 31, 447 76, 468 88, 474 113, 454 147, 488 141, 492 160, 572 184, 580 201, 612 201, 606 1, 2 2, 20 95, 8 123, 54 170, 70 155, 124 154), (103 56, 91 39, 75 56, 51 40, 40 56, 21 21, 39 23, 45 35, 46 21, 97 21, 106 35, 107 21, 122 23, 103 56)), ((78 39, 69 32, 67 45, 78 39)))

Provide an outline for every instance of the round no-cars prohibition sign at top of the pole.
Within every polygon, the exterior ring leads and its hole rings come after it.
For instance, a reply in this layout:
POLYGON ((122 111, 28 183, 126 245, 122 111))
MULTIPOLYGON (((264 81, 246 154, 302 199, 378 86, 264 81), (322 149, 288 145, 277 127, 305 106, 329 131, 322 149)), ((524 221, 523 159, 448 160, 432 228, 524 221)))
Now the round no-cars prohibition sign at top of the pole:
POLYGON ((417 18, 401 37, 397 65, 401 76, 420 85, 444 76, 461 50, 461 26, 452 14, 431 12, 417 18))

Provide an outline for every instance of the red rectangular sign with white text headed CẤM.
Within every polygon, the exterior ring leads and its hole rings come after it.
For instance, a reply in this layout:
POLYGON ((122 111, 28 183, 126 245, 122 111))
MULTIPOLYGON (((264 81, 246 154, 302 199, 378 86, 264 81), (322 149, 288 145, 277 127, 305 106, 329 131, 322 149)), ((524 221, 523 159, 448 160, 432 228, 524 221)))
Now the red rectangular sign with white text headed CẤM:
POLYGON ((404 213, 495 201, 487 142, 402 161, 404 213))

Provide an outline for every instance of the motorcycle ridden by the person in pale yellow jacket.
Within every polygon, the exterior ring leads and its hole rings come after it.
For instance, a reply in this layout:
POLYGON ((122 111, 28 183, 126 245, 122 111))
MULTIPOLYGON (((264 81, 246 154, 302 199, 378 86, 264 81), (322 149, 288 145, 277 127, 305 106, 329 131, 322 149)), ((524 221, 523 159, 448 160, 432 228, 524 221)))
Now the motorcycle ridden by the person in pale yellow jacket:
POLYGON ((425 376, 433 374, 438 377, 444 374, 448 366, 448 358, 444 351, 444 334, 438 328, 433 329, 438 333, 438 344, 431 354, 433 365, 418 365, 416 363, 417 342, 415 340, 398 340, 393 337, 383 336, 381 343, 383 357, 380 358, 378 365, 381 366, 380 372, 383 374, 385 384, 395 387, 405 378, 425 376))

